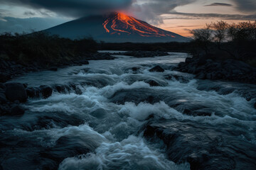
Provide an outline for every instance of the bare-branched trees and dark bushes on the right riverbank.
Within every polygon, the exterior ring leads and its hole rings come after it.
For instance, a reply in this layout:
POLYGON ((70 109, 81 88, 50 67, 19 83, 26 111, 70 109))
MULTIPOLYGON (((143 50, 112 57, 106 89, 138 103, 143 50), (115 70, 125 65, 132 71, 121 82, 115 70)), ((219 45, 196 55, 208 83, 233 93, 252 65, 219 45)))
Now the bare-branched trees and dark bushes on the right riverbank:
POLYGON ((217 21, 191 30, 191 34, 193 43, 203 50, 206 57, 221 58, 222 55, 235 60, 255 60, 256 21, 231 24, 217 21))

